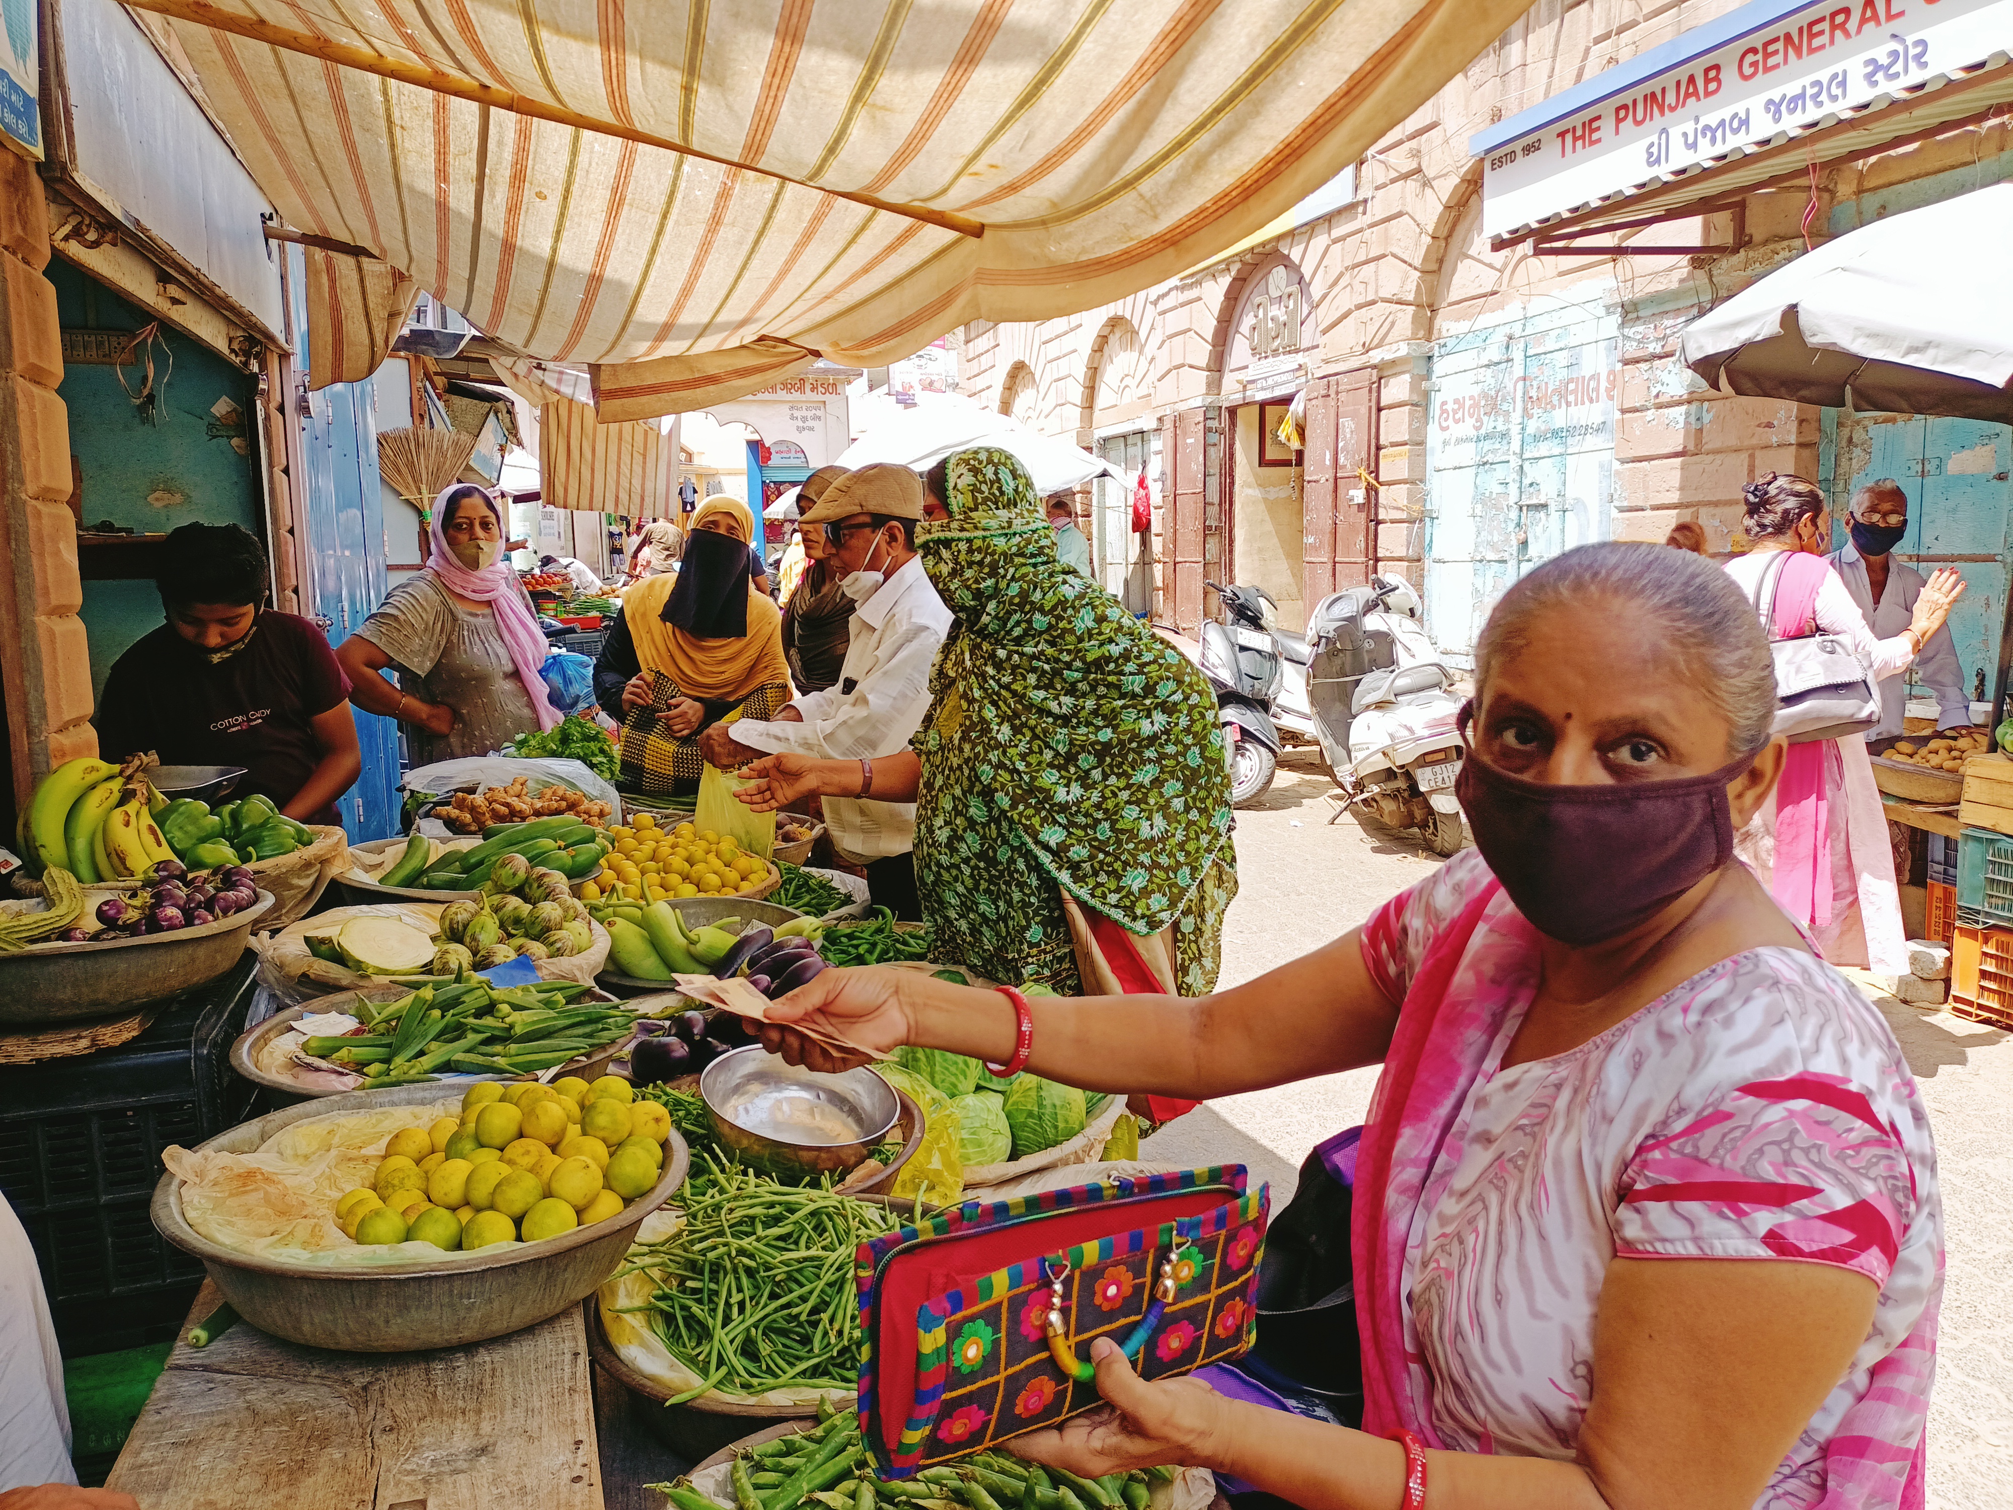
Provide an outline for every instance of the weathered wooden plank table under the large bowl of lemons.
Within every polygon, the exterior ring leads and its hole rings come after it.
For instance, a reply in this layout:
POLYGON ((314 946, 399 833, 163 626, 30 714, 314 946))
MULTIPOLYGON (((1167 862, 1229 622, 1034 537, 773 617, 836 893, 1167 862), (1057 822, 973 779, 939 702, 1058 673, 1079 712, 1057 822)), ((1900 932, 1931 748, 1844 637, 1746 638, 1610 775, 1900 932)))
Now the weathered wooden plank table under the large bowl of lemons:
MULTIPOLYGON (((219 1299, 205 1282, 189 1321, 219 1299)), ((107 1488, 141 1510, 662 1510, 642 1486, 686 1464, 626 1429, 626 1393, 594 1373, 580 1307, 433 1353, 328 1353, 240 1321, 175 1343, 107 1488)))

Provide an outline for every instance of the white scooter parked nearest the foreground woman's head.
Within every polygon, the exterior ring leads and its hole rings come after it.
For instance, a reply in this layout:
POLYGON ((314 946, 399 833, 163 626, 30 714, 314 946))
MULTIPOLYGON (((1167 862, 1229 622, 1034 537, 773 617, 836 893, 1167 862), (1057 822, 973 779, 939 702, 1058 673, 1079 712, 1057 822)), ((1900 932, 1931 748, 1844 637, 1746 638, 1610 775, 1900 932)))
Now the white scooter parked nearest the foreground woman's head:
MULTIPOLYGON (((1323 598, 1308 620, 1308 699, 1323 753, 1357 821, 1419 829, 1439 856, 1463 844, 1455 674, 1419 622, 1403 578, 1323 598)), ((1335 821, 1333 817, 1329 821, 1335 821)))

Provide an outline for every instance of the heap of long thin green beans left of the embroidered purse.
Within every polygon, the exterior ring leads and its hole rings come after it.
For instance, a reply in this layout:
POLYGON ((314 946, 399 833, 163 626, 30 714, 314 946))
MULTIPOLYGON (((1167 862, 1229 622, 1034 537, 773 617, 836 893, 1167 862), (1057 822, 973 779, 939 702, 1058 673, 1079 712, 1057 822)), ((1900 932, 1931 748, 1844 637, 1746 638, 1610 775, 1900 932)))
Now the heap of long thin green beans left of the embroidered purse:
MULTIPOLYGON (((692 1150, 684 1226, 630 1248, 622 1274, 656 1289, 650 1327, 713 1389, 854 1389, 860 1305, 854 1250, 896 1220, 829 1186, 783 1186, 711 1150, 692 1150)), ((620 1274, 618 1274, 620 1278, 620 1274)))

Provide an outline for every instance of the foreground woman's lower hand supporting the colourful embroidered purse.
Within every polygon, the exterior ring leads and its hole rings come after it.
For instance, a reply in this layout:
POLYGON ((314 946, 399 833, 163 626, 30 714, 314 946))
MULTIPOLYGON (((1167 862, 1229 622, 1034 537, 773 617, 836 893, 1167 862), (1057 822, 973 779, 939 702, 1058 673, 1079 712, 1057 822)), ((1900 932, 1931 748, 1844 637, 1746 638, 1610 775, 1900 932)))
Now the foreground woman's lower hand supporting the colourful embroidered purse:
POLYGON ((1067 1468, 1083 1478, 1180 1464, 1212 1468, 1228 1438, 1224 1397, 1202 1379, 1147 1383, 1109 1337, 1091 1343, 1097 1393, 1105 1403, 1047 1431, 1015 1438, 1017 1458, 1067 1468))

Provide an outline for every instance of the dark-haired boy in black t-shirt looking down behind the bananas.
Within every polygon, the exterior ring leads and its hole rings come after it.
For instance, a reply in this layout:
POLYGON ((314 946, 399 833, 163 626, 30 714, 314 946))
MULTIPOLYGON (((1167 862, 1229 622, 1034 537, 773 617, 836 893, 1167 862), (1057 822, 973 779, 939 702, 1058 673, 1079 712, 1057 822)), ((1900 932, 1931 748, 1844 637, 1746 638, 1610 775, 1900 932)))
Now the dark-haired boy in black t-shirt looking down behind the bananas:
POLYGON ((161 548, 167 624, 113 664, 99 753, 163 765, 242 765, 231 793, 272 797, 302 823, 336 823, 362 773, 350 685, 306 618, 266 608, 266 552, 236 523, 185 523, 161 548))

